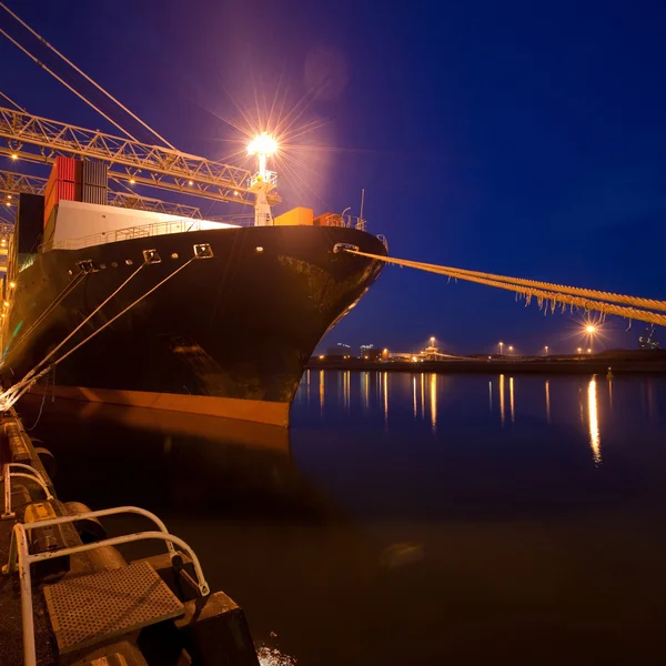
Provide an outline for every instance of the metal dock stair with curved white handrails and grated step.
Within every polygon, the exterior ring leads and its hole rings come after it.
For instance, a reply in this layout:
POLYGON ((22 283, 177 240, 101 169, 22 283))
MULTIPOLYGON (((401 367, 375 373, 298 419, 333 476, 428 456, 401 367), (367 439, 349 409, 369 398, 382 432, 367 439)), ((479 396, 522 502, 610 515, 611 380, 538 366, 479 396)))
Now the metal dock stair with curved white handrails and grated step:
MULTIPOLYGON (((11 474, 11 476, 18 475, 19 473, 11 474)), ((9 478, 10 475, 7 474, 6 483, 9 478)), ((31 478, 34 477, 31 476, 31 478)), ((181 568, 183 562, 182 555, 174 548, 174 545, 179 546, 191 561, 195 575, 195 579, 192 579, 193 588, 199 597, 208 597, 210 589, 203 577, 199 558, 192 548, 179 537, 169 534, 164 523, 143 508, 121 506, 14 524, 9 561, 2 568, 2 573, 12 574, 17 571, 19 573, 24 666, 37 666, 31 564, 143 539, 164 542, 169 559, 176 569, 181 568), (32 529, 128 513, 150 518, 159 531, 139 532, 73 547, 58 547, 41 553, 30 553, 28 534, 32 529)), ((95 574, 64 578, 59 583, 46 585, 44 596, 61 655, 74 653, 91 645, 138 632, 143 627, 185 615, 184 605, 148 562, 138 562, 95 574)))

